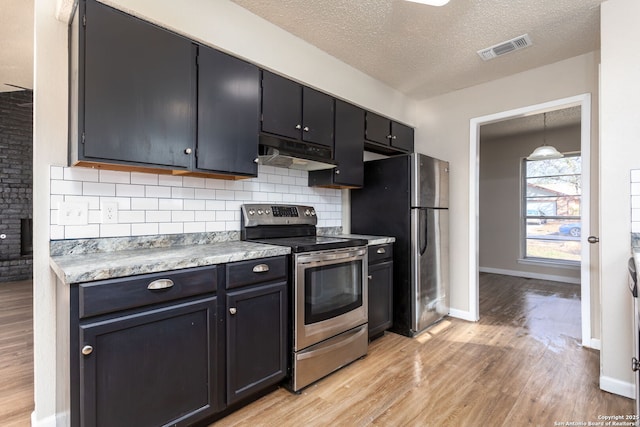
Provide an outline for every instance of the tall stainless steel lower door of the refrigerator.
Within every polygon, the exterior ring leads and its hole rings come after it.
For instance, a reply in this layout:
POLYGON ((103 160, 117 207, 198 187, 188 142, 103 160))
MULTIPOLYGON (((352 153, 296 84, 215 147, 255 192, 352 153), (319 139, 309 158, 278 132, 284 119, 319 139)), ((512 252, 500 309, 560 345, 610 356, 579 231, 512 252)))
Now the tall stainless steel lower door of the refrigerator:
POLYGON ((412 332, 449 314, 449 210, 411 210, 412 332))

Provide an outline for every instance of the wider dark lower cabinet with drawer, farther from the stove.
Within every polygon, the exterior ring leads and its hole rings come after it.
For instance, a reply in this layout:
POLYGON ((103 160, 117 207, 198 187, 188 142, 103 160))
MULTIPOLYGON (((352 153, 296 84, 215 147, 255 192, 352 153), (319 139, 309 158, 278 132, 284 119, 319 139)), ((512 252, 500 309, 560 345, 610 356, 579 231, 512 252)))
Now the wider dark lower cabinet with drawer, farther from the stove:
POLYGON ((203 267, 74 285, 71 424, 186 426, 221 410, 216 283, 203 267))

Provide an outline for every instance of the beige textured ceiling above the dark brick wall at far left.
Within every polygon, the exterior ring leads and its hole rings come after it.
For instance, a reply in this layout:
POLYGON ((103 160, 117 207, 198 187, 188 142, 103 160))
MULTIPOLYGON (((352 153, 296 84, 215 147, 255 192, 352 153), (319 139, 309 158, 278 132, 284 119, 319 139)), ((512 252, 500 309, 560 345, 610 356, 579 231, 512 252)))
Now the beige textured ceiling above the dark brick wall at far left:
POLYGON ((33 89, 33 0, 0 0, 0 92, 33 89))

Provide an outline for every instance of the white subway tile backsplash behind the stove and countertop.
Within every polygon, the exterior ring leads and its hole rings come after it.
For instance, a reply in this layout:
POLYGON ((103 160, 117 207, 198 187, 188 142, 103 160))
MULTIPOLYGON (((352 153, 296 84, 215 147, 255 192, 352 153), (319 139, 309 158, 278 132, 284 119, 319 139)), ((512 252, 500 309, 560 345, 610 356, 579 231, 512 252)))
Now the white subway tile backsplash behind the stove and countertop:
POLYGON ((240 205, 250 202, 313 205, 320 227, 342 225, 340 190, 308 187, 304 171, 262 165, 258 170, 257 178, 218 180, 52 166, 51 239, 238 231, 240 205), (86 203, 89 224, 57 225, 62 201, 86 203), (116 224, 102 224, 105 201, 118 203, 116 224))

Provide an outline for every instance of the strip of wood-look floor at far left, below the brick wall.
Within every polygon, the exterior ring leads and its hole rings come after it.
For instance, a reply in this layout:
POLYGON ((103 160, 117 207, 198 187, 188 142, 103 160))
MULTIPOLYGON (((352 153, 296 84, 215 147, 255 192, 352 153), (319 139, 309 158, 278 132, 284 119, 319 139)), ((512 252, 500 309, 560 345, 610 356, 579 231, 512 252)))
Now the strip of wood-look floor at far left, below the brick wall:
POLYGON ((0 283, 0 426, 31 425, 33 286, 0 283))

